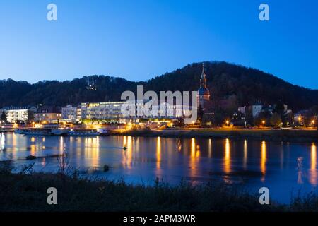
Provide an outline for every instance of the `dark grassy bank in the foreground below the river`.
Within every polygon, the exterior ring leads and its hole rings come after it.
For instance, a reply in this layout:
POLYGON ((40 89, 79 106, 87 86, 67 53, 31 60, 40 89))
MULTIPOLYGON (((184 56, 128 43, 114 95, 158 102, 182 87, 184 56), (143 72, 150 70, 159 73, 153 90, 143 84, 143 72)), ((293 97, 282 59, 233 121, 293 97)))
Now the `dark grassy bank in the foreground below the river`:
MULTIPOLYGON (((0 162, 3 165, 4 162, 0 162)), ((6 165, 6 164, 5 164, 6 165)), ((28 167, 26 167, 28 169, 28 167)), ((28 173, 25 173, 28 172, 28 173)), ((318 210, 318 197, 295 198, 289 206, 260 205, 257 194, 227 184, 168 186, 79 179, 76 174, 11 173, 0 167, 0 211, 302 211, 318 210), (57 188, 58 204, 47 204, 47 189, 57 188)))

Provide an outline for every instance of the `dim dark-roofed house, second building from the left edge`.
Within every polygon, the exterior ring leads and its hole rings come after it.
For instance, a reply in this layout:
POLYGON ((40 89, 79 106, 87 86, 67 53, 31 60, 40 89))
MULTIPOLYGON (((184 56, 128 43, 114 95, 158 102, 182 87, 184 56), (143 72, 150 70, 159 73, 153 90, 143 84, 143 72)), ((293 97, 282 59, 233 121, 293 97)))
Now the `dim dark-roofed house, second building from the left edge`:
POLYGON ((42 106, 34 114, 34 120, 39 122, 56 123, 61 119, 61 108, 42 106))

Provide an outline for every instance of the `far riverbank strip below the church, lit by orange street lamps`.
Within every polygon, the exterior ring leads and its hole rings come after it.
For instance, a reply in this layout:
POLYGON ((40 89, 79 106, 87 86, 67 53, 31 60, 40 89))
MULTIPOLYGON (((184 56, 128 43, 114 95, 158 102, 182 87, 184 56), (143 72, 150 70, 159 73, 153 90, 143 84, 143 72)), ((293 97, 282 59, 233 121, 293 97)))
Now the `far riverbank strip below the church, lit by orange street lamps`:
POLYGON ((318 142, 317 130, 306 129, 164 129, 154 131, 149 129, 112 131, 110 135, 146 136, 166 138, 234 138, 255 139, 261 141, 293 141, 318 142))

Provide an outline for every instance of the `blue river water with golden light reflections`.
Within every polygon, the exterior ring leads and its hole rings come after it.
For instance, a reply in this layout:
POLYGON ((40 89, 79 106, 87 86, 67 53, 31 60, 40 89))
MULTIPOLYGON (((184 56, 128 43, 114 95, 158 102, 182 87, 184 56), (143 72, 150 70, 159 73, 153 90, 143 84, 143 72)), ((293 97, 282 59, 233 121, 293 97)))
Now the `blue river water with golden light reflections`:
POLYGON ((17 169, 35 163, 37 172, 57 172, 59 159, 81 174, 171 185, 224 181, 250 192, 269 188, 271 198, 288 203, 292 194, 316 192, 317 144, 208 138, 143 138, 131 136, 62 137, 0 135, 0 160, 13 160, 17 169), (124 150, 122 147, 126 147, 124 150), (36 160, 25 160, 35 155, 36 160), (104 165, 110 170, 103 172, 104 165))

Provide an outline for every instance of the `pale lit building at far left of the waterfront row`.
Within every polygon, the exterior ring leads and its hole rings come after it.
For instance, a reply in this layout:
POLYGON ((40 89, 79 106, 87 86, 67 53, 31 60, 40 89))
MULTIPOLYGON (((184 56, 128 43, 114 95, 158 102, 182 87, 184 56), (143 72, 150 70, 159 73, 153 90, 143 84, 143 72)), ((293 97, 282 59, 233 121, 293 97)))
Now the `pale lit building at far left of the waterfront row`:
POLYGON ((9 123, 16 123, 18 121, 28 121, 28 116, 30 113, 33 114, 36 112, 37 108, 33 106, 24 106, 24 107, 4 107, 1 109, 1 112, 6 113, 6 120, 9 123))

